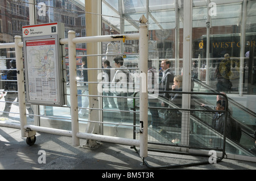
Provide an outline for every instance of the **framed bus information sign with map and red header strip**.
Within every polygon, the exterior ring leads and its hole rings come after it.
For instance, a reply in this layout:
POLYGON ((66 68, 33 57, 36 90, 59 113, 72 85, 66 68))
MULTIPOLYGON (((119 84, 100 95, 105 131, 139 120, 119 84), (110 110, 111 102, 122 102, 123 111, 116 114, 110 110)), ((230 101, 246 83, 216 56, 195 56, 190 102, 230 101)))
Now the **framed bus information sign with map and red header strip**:
POLYGON ((23 27, 27 102, 62 106, 64 99, 63 24, 48 23, 23 27), (62 26, 62 27, 61 27, 62 26), (63 28, 63 29, 62 29, 63 28))

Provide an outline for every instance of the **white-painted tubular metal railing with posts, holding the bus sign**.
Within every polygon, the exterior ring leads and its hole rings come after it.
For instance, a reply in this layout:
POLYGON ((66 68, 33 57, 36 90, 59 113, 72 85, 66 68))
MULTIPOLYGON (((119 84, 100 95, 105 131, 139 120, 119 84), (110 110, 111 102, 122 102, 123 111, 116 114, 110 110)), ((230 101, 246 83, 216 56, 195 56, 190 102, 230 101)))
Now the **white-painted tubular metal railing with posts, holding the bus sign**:
MULTIPOLYGON (((60 44, 68 44, 68 54, 69 54, 69 85, 70 85, 70 96, 71 96, 71 122, 72 131, 64 131, 60 129, 44 128, 36 125, 27 125, 26 117, 26 106, 19 106, 20 112, 20 124, 9 123, 2 121, 0 126, 14 127, 21 129, 21 137, 33 137, 35 136, 35 131, 46 132, 51 134, 59 134, 63 136, 72 136, 73 146, 79 146, 79 138, 85 138, 88 140, 98 140, 113 142, 117 144, 125 144, 131 146, 140 147, 140 156, 147 157, 147 128, 148 128, 148 95, 147 87, 146 91, 142 92, 142 83, 140 82, 140 92, 139 92, 139 104, 141 108, 139 110, 139 120, 140 120, 140 131, 139 140, 104 136, 91 133, 81 133, 79 132, 79 117, 78 117, 78 103, 77 103, 77 82, 76 82, 76 44, 79 43, 92 43, 92 42, 103 42, 103 41, 122 41, 123 37, 126 40, 139 40, 139 61, 141 62, 139 67, 139 72, 144 73, 147 76, 147 61, 148 61, 148 36, 147 36, 147 26, 146 21, 143 16, 141 18, 141 25, 139 27, 139 33, 129 33, 125 35, 106 35, 106 36, 91 36, 91 37, 75 37, 75 31, 68 32, 67 39, 61 39, 60 44), (27 134, 30 132, 31 134, 27 134)), ((23 42, 21 36, 15 36, 14 43, 0 44, 0 48, 15 48, 16 55, 16 70, 17 70, 17 81, 18 81, 18 99, 19 105, 25 105, 25 90, 24 90, 24 74, 23 74, 23 42)), ((147 86, 144 85, 143 86, 147 86)), ((99 121, 100 122, 100 121, 99 121)))

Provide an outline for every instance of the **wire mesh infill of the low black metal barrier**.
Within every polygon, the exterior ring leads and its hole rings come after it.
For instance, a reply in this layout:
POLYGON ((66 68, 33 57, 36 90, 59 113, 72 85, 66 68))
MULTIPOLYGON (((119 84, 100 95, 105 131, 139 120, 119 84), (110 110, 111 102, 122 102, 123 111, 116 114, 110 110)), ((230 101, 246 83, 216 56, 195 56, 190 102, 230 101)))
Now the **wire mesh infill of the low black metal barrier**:
POLYGON ((148 141, 221 150, 223 149, 223 136, 211 127, 212 115, 212 112, 164 111, 163 121, 148 128, 148 141))

